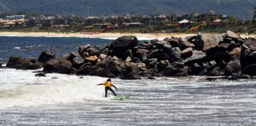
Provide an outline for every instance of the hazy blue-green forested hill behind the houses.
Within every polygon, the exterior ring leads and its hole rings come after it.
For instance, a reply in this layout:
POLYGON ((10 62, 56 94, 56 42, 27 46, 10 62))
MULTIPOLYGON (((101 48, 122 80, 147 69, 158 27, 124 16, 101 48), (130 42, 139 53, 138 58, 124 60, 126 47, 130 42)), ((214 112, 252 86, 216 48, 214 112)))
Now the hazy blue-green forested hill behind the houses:
POLYGON ((0 13, 49 13, 79 17, 159 13, 216 13, 251 19, 256 0, 0 0, 0 13))

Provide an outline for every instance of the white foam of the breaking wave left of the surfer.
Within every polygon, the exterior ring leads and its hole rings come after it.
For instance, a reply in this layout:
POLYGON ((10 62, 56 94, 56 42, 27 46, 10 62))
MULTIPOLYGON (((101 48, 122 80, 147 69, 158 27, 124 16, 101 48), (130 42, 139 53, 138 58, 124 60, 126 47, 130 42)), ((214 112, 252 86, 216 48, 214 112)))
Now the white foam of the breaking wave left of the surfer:
POLYGON ((1 69, 0 108, 13 106, 39 106, 44 104, 66 104, 104 98, 102 83, 105 78, 97 76, 72 76, 47 74, 36 77, 32 71, 1 69), (6 72, 3 72, 5 71, 6 72), (8 73, 9 74, 8 74, 8 73), (57 77, 58 79, 52 79, 57 77))

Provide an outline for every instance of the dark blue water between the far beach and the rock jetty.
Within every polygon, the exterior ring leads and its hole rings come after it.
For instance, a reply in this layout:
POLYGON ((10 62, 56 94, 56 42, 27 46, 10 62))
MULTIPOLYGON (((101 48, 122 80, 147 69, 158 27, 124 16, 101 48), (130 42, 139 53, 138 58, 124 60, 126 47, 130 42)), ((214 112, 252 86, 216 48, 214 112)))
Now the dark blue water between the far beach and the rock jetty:
POLYGON ((0 36, 0 62, 6 63, 10 56, 38 58, 43 50, 56 50, 57 57, 77 51, 78 46, 90 44, 102 46, 112 39, 0 36))

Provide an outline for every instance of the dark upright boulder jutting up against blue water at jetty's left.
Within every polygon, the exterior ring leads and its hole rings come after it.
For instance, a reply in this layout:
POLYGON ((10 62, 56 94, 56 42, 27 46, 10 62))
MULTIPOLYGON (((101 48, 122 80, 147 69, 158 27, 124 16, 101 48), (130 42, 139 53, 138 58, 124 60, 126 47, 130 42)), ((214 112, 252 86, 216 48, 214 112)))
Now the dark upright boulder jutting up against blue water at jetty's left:
POLYGON ((55 57, 55 50, 43 50, 43 52, 40 54, 40 57, 38 57, 38 61, 45 63, 46 61, 55 57))

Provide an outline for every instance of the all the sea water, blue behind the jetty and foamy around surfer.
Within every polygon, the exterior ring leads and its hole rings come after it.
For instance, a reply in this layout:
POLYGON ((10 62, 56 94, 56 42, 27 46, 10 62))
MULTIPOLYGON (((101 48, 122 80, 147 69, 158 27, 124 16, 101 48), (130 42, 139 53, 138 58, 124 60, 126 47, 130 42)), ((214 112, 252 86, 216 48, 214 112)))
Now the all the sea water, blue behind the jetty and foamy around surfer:
MULTIPOLYGON (((109 39, 0 37, 3 63, 11 55, 57 55, 81 44, 104 45, 109 39)), ((205 80, 205 76, 113 79, 118 95, 104 98, 107 78, 57 73, 37 77, 32 70, 0 69, 0 125, 256 125, 256 80, 205 80)))

